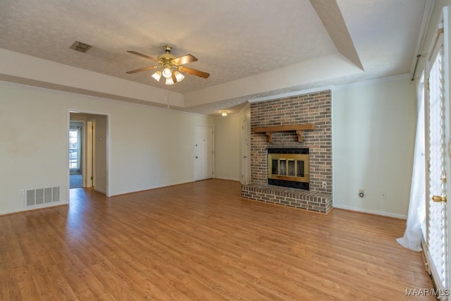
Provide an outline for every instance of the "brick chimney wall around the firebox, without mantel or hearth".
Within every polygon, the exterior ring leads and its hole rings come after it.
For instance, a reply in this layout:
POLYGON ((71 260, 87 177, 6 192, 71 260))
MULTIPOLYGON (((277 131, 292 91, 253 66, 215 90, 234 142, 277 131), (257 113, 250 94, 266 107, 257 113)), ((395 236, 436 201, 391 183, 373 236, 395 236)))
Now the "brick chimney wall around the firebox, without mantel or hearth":
POLYGON ((332 193, 332 118, 330 90, 273 99, 251 104, 251 183, 266 185, 266 149, 269 147, 309 147, 310 191, 332 193), (252 129, 271 125, 314 123, 316 130, 304 130, 303 141, 295 131, 273 133, 269 143, 265 133, 252 129), (326 189, 322 183, 326 182, 326 189))

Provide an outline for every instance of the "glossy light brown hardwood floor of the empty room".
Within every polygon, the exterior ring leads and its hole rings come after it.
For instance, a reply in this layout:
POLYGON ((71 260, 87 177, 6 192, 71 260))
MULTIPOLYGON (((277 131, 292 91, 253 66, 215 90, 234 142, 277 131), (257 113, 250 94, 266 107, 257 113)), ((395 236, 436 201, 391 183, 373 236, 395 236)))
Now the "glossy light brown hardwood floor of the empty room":
POLYGON ((405 221, 240 198, 227 180, 0 216, 0 300, 435 300, 405 221))

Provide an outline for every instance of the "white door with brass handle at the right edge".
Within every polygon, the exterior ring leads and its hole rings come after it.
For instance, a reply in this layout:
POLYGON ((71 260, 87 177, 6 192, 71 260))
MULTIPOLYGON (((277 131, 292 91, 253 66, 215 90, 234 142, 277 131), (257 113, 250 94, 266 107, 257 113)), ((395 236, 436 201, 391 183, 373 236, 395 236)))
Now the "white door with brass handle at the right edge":
MULTIPOLYGON (((450 81, 444 28, 447 9, 438 25, 437 36, 426 62, 426 135, 428 199, 426 242, 431 273, 437 288, 449 288, 447 192, 450 192, 450 81)), ((447 31, 447 30, 446 30, 447 31)), ((444 296, 445 297, 445 296, 444 296)))

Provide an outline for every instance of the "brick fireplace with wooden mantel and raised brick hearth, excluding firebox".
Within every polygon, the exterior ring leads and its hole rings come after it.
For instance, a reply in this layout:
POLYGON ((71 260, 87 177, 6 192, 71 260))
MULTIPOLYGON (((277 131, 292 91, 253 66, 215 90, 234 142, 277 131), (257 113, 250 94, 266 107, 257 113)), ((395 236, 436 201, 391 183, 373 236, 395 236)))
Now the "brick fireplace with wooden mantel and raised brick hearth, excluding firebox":
POLYGON ((332 209, 331 111, 330 90, 252 103, 251 183, 242 185, 242 197, 323 213, 332 209), (268 149, 308 149, 308 190, 268 185, 268 149))

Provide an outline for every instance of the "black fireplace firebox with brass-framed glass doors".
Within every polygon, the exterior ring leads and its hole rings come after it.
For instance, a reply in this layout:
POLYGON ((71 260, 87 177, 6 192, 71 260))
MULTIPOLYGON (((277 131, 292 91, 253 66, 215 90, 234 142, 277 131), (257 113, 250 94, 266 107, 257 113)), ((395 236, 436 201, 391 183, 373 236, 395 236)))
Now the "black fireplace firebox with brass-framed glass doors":
POLYGON ((268 184, 309 190, 309 149, 268 149, 268 184))

